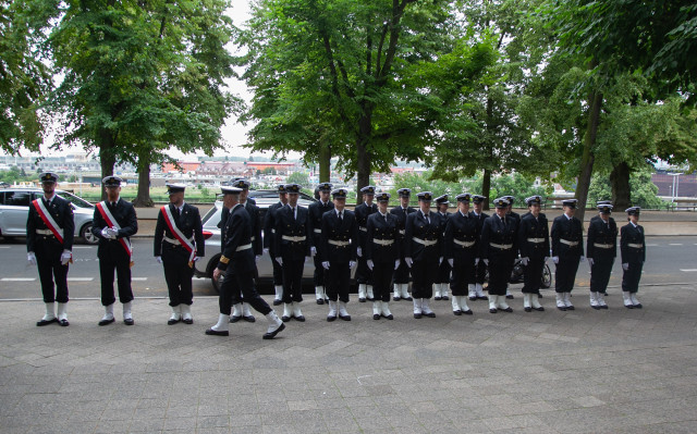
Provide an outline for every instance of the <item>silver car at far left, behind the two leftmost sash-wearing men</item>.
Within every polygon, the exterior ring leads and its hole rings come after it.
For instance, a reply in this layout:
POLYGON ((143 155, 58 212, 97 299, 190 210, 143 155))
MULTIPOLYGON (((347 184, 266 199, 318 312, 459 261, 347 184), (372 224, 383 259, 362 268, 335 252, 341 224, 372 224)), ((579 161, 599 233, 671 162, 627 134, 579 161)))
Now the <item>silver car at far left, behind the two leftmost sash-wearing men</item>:
MULTIPOLYGON (((91 220, 95 206, 64 190, 56 194, 68 200, 73 207, 75 216, 75 236, 87 244, 97 244, 98 238, 91 233, 91 220)), ((32 200, 44 195, 40 188, 3 188, 0 190, 0 235, 11 238, 26 236, 26 219, 32 200)))

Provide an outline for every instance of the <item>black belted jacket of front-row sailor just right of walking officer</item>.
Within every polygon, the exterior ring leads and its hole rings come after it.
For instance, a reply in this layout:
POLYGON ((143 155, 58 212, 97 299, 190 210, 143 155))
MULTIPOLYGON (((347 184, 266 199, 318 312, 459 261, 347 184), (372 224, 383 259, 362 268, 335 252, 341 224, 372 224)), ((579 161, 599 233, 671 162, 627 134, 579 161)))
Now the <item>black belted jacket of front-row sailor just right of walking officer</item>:
POLYGON ((276 243, 277 256, 290 260, 301 260, 309 256, 309 213, 307 208, 295 206, 296 216, 289 204, 276 211, 276 243), (302 241, 292 241, 283 237, 304 237, 302 241))

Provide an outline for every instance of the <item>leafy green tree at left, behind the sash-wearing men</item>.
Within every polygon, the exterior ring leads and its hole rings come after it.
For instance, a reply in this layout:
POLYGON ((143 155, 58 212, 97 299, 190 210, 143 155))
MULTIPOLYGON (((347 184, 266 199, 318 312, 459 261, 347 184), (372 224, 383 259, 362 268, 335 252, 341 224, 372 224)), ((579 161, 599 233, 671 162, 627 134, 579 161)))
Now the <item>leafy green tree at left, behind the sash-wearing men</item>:
MULTIPOLYGON (((50 0, 34 0, 46 3, 50 0)), ((225 0, 68 1, 49 38, 64 78, 50 108, 70 128, 66 144, 97 150, 102 176, 117 161, 137 164, 136 202, 151 204, 149 166, 168 151, 220 146, 235 100, 224 49, 233 27, 225 0)))

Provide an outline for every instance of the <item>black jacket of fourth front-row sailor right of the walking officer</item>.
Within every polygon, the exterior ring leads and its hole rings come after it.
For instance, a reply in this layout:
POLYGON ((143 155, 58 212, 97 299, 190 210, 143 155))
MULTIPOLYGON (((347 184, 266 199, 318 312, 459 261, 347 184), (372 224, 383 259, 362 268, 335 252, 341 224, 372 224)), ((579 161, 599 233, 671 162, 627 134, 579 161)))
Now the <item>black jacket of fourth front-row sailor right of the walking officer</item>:
POLYGON ((406 216, 406 227, 404 228, 404 257, 414 261, 429 260, 438 262, 442 257, 443 232, 445 231, 444 219, 438 212, 429 212, 430 223, 418 210, 406 216), (438 241, 432 246, 425 246, 414 238, 427 241, 438 241))

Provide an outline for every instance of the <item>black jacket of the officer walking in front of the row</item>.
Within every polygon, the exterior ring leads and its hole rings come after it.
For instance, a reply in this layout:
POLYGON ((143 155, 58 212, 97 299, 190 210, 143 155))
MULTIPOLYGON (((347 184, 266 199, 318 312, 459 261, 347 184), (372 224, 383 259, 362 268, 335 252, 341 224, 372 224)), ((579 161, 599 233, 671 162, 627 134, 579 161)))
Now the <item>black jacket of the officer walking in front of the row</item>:
POLYGON ((227 270, 232 264, 235 273, 252 272, 256 264, 252 248, 237 250, 237 248, 252 244, 252 218, 240 203, 229 212, 228 221, 222 228, 222 256, 218 268, 227 270))

